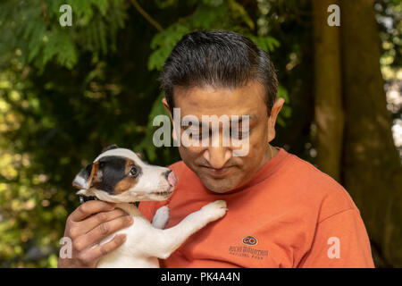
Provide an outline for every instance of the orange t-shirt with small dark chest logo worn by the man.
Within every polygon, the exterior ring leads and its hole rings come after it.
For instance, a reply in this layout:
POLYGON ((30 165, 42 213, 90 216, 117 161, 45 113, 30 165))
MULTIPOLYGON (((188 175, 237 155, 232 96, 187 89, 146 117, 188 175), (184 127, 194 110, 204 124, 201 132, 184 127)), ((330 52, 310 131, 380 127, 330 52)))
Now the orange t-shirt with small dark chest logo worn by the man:
POLYGON ((163 202, 141 202, 149 221, 168 204, 170 228, 217 199, 228 212, 190 236, 162 267, 373 267, 359 210, 330 176, 283 148, 243 189, 216 194, 182 161, 163 202))

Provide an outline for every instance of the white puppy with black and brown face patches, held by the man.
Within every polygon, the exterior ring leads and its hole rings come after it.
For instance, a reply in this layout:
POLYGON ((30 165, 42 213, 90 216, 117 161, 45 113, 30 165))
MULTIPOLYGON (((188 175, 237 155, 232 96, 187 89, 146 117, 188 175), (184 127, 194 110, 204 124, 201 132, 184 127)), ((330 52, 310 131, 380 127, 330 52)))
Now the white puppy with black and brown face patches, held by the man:
POLYGON ((92 164, 79 172, 72 185, 80 189, 77 194, 81 199, 116 203, 116 207, 134 218, 130 227, 116 231, 99 243, 112 240, 116 234, 127 234, 121 247, 103 257, 96 267, 157 268, 158 258, 166 259, 190 235, 226 214, 226 202, 217 200, 163 230, 169 221, 169 208, 162 206, 152 224, 149 223, 133 202, 165 200, 172 196, 176 184, 176 175, 168 168, 146 164, 136 153, 115 145, 106 147, 92 164))

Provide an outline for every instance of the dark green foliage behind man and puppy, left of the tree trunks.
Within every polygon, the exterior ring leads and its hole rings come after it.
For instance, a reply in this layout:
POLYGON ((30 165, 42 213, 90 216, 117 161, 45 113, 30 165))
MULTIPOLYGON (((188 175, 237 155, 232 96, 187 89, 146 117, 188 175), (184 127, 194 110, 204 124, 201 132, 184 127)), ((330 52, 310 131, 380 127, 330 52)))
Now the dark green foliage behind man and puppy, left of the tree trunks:
POLYGON ((133 148, 153 164, 180 159, 175 148, 153 145, 152 122, 167 114, 159 71, 189 31, 238 31, 269 52, 287 103, 275 140, 303 154, 310 1, 250 3, 138 1, 158 31, 128 0, 0 2, 1 266, 56 266, 66 217, 78 206, 72 178, 102 147, 133 148), (71 27, 59 24, 62 4, 71 4, 71 27))

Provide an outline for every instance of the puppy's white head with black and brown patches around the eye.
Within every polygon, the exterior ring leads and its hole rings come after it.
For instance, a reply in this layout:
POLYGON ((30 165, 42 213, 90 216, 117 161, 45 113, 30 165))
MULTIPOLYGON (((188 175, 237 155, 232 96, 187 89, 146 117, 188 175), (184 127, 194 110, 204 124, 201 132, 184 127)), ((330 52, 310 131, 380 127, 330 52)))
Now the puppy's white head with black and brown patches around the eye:
POLYGON ((72 181, 79 195, 113 203, 164 200, 177 178, 168 168, 146 164, 129 149, 108 147, 72 181))

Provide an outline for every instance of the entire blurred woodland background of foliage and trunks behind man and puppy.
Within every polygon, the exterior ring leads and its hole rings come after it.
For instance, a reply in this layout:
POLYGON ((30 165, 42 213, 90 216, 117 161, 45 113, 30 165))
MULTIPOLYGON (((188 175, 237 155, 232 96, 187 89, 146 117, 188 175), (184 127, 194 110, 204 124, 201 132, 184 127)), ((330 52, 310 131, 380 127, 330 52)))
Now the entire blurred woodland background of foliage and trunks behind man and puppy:
POLYGON ((184 34, 226 29, 276 66, 286 105, 272 144, 339 181, 375 265, 401 267, 401 17, 400 0, 2 0, 0 266, 57 266, 79 205, 71 181, 103 147, 180 160, 152 143, 159 72, 184 34), (59 23, 63 4, 71 26, 59 23))

